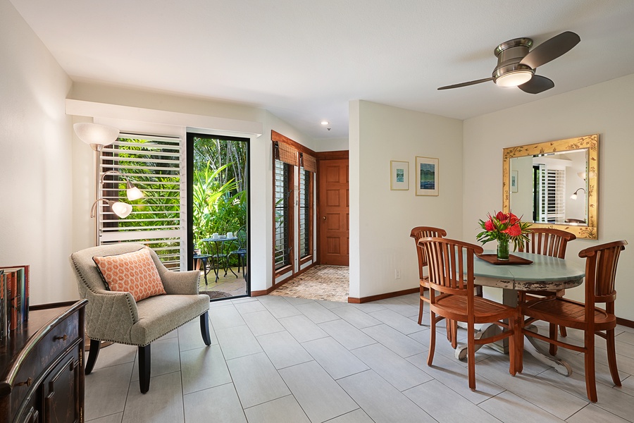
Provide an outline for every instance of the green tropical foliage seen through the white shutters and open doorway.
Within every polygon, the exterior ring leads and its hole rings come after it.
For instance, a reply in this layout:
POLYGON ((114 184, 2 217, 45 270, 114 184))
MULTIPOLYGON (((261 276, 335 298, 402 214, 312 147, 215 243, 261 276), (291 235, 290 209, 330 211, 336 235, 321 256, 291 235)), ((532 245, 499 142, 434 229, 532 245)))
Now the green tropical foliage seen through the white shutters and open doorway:
MULTIPOLYGON (((134 212, 111 225, 125 231, 180 227, 180 168, 178 150, 170 142, 121 138, 120 171, 143 191, 144 197, 130 202, 134 212), (129 153, 128 153, 129 152, 129 153), (173 156, 170 154, 174 153, 173 156)), ((210 243, 202 242, 213 233, 237 233, 247 225, 247 145, 242 141, 194 138, 194 185, 192 226, 194 244, 212 254, 210 243)), ((108 183, 111 195, 126 199, 125 180, 108 183)), ((107 225, 107 223, 105 223, 107 225)), ((154 248, 168 248, 154 245, 154 248)), ((237 245, 224 245, 226 250, 237 245)), ((215 253, 215 251, 213 251, 215 253)), ((225 253, 228 251, 225 251, 225 253)))

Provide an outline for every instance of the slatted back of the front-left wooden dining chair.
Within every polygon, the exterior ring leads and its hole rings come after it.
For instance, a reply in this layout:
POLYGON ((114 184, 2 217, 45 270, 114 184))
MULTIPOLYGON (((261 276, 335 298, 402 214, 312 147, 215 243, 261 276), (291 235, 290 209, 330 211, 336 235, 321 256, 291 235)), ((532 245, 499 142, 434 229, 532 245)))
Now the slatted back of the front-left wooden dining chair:
POLYGON ((451 295, 473 296, 473 256, 482 254, 480 245, 448 238, 421 238, 418 245, 428 257, 430 300, 433 291, 451 295))

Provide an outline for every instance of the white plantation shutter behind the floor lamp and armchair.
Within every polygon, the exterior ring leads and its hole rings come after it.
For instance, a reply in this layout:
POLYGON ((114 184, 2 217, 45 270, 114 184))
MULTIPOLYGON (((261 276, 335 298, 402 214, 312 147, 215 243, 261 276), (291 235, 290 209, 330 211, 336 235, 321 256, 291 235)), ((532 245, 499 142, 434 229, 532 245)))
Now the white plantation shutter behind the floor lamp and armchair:
POLYGON ((181 178, 181 140, 172 137, 126 135, 101 151, 99 177, 106 171, 123 173, 144 193, 130 202, 125 178, 108 174, 99 197, 132 204, 125 219, 105 202, 97 210, 99 244, 135 242, 148 245, 168 269, 186 268, 185 177, 181 178))

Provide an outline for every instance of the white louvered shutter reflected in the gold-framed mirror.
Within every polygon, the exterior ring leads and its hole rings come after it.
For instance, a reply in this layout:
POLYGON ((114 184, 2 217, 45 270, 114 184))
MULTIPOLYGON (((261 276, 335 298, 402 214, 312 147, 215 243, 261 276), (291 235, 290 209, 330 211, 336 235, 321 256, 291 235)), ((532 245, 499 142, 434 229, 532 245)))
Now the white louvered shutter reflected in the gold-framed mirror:
POLYGON ((566 215, 565 192, 566 172, 540 165, 540 192, 537 221, 541 223, 561 223, 566 215))

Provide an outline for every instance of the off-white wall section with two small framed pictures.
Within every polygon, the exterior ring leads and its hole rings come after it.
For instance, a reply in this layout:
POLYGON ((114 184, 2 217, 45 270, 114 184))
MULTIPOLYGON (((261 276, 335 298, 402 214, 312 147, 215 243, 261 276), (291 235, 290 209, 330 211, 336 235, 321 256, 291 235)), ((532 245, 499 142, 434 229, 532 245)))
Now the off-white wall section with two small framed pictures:
POLYGON ((462 121, 359 100, 349 116, 350 296, 416 288, 411 228, 463 233, 462 121), (416 196, 416 156, 440 159, 439 196, 416 196), (390 160, 409 161, 409 190, 390 190, 390 160))

